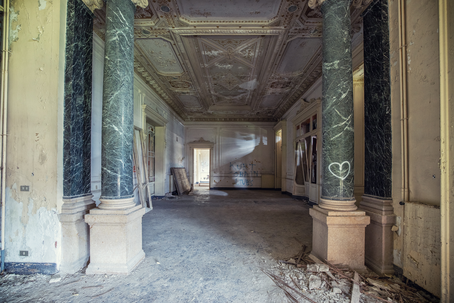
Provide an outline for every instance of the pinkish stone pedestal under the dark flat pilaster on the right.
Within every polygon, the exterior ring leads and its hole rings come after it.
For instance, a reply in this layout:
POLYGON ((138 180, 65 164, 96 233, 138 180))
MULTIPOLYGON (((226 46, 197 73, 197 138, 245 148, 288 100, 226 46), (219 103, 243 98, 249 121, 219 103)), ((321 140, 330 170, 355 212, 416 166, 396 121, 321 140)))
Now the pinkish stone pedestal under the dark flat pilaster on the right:
POLYGON ((396 216, 388 198, 363 195, 360 210, 370 216, 365 228, 365 264, 378 274, 394 274, 393 232, 396 216))

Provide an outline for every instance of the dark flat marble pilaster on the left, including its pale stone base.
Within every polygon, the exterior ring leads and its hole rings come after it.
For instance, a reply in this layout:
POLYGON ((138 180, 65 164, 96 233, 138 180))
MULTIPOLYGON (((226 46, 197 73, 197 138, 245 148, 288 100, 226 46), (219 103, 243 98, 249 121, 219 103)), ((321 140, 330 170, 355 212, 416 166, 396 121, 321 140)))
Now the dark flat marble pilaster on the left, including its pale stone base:
POLYGON ((68 0, 64 74, 62 258, 59 270, 75 273, 90 256, 89 226, 96 204, 91 184, 91 84, 93 13, 81 0, 68 0))

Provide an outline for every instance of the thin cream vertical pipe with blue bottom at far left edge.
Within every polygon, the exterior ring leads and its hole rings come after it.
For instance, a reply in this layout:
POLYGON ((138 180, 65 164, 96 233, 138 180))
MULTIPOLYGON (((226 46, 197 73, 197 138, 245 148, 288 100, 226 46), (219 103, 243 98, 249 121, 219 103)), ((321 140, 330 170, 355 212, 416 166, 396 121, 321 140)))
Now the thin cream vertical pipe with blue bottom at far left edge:
POLYGON ((8 58, 10 46, 10 0, 3 2, 3 40, 2 40, 2 70, 1 70, 1 271, 5 269, 5 190, 6 190, 6 115, 8 105, 8 58))

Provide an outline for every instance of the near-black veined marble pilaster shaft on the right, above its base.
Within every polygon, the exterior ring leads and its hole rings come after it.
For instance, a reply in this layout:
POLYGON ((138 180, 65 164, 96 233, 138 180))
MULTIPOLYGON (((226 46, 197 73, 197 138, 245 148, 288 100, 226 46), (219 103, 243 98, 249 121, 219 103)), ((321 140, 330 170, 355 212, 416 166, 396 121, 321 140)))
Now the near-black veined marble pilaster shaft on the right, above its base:
POLYGON ((390 198, 392 173, 388 2, 375 1, 364 25, 364 193, 390 198))

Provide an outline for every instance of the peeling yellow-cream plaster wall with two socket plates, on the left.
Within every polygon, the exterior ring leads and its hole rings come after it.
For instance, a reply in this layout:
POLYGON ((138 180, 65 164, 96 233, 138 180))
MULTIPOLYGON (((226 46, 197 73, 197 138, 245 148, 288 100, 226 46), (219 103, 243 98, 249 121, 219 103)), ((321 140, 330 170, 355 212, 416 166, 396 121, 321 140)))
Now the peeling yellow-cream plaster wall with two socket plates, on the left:
POLYGON ((66 5, 11 0, 10 8, 5 262, 58 264, 66 5))

